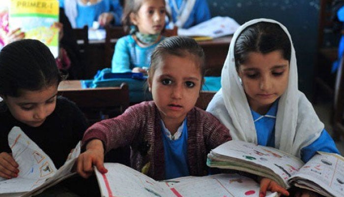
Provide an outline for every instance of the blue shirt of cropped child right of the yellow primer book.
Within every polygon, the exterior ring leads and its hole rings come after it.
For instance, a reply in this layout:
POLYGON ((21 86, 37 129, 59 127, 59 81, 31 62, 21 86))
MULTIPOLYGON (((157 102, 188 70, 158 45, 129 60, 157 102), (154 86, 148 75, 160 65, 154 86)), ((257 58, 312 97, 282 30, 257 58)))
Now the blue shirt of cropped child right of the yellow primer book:
MULTIPOLYGON (((59 6, 64 8, 64 2, 67 0, 59 0, 59 6)), ((98 17, 104 12, 111 12, 114 15, 115 26, 121 25, 122 6, 119 0, 102 0, 89 6, 83 6, 77 3, 76 26, 83 28, 85 25, 92 27, 93 21, 98 21, 98 17)))

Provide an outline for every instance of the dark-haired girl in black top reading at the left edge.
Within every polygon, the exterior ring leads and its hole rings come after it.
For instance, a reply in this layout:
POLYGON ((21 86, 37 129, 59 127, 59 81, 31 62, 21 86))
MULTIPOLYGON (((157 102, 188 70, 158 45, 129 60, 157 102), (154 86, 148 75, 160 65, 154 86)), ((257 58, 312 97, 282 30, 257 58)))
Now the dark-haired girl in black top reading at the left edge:
MULTIPOLYGON (((0 52, 0 177, 18 176, 8 133, 20 127, 57 168, 86 130, 86 118, 71 101, 57 97, 61 81, 56 61, 42 42, 23 39, 0 52)), ((61 190, 62 191, 62 190, 61 190)))

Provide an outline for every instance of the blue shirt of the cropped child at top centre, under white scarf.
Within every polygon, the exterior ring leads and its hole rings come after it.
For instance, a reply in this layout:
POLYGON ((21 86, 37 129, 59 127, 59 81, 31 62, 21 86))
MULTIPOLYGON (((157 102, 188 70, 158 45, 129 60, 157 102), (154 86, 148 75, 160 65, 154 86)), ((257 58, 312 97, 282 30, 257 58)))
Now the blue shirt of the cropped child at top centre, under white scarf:
MULTIPOLYGON (((169 1, 171 10, 172 10, 172 20, 175 22, 177 20, 177 12, 173 8, 173 0, 169 1)), ((180 8, 183 4, 183 0, 175 0, 177 7, 180 8)), ((211 18, 210 10, 206 0, 196 0, 195 5, 190 13, 189 18, 185 21, 183 29, 188 29, 192 26, 195 26, 201 22, 207 21, 211 18)))

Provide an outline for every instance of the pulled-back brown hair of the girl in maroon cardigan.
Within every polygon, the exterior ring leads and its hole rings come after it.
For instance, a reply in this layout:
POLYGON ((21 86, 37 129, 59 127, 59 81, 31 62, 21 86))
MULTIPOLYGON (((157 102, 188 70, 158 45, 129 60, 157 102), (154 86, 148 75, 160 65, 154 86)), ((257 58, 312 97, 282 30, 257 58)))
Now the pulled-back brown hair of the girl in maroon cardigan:
POLYGON ((202 83, 205 73, 205 57, 202 47, 190 37, 172 36, 165 38, 154 49, 149 66, 149 77, 154 75, 157 66, 161 66, 165 55, 174 55, 178 57, 186 57, 188 55, 194 56, 195 60, 199 63, 202 83))

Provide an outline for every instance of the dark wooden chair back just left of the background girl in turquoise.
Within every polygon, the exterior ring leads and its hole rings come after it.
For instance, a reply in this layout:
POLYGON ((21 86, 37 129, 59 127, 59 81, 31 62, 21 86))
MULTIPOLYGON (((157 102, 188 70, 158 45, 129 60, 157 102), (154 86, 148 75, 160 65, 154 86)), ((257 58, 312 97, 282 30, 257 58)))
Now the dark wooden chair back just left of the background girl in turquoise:
POLYGON ((124 32, 123 27, 111 27, 108 26, 105 28, 106 36, 105 36, 105 62, 104 66, 111 67, 112 57, 115 51, 115 42, 118 38, 127 35, 124 32))

